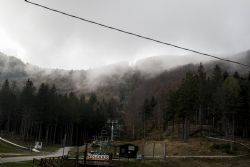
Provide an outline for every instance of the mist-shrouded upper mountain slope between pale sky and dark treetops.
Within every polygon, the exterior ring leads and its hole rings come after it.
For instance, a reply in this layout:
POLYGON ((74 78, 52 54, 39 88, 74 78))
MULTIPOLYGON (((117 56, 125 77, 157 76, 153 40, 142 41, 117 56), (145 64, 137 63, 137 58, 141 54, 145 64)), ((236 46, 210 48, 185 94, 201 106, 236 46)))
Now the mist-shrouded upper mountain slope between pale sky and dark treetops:
MULTIPOLYGON (((250 51, 242 52, 230 57, 232 60, 238 60, 245 64, 250 64, 250 51)), ((222 62, 207 58, 196 59, 195 56, 156 56, 142 59, 135 65, 129 66, 126 62, 121 62, 109 66, 104 66, 90 70, 61 70, 61 69, 43 69, 30 64, 24 64, 21 60, 6 56, 0 53, 0 80, 14 80, 22 86, 25 80, 30 78, 35 85, 42 82, 55 84, 58 90, 67 93, 70 91, 76 93, 87 93, 91 91, 99 92, 101 97, 119 98, 121 89, 125 84, 131 84, 126 81, 137 75, 141 80, 135 83, 133 89, 141 87, 146 92, 162 91, 170 89, 183 78, 186 71, 195 70, 194 65, 202 60, 207 71, 212 71, 214 64, 219 64, 228 72, 238 71, 246 75, 249 69, 236 64, 222 62), (137 84, 137 85, 136 85, 137 84)), ((126 88, 127 89, 127 88, 126 88)), ((132 89, 132 88, 131 88, 132 89)))

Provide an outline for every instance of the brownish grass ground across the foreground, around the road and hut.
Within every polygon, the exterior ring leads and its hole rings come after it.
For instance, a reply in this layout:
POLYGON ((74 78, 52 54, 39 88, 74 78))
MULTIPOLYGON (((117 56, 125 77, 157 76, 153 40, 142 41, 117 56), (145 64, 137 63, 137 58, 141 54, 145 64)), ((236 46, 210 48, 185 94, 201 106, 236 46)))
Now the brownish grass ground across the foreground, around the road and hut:
MULTIPOLYGON (((139 153, 142 154, 144 146, 144 155, 152 155, 153 147, 154 155, 163 155, 163 146, 166 144, 167 155, 243 155, 249 154, 250 152, 244 147, 234 144, 234 149, 230 152, 230 143, 223 141, 213 141, 206 138, 191 138, 188 142, 183 142, 181 140, 166 139, 163 141, 116 141, 114 145, 120 145, 123 143, 133 143, 139 146, 139 153)), ((89 145, 90 146, 90 145, 89 145)), ((58 149, 58 145, 47 147, 45 150, 47 152, 55 151, 58 149)), ((83 156, 85 147, 80 147, 80 154, 83 156)), ((91 147, 88 148, 88 151, 91 147)), ((106 148, 103 148, 106 150, 106 148)), ((107 149, 114 151, 114 149, 107 149)), ((76 149, 73 149, 76 151, 76 149)), ((16 154, 27 154, 26 150, 17 149, 11 145, 0 142, 0 154, 1 153, 16 153, 16 154)), ((28 152, 29 154, 33 154, 28 152)), ((114 152, 113 152, 114 153, 114 152)), ((250 166, 250 156, 245 156, 241 158, 167 158, 164 161, 162 158, 159 160, 123 160, 123 161, 113 161, 117 167, 249 167, 250 166)), ((20 163, 6 163, 1 164, 0 167, 31 167, 33 166, 31 161, 20 162, 20 163)), ((63 167, 73 167, 74 162, 67 161, 63 167)))

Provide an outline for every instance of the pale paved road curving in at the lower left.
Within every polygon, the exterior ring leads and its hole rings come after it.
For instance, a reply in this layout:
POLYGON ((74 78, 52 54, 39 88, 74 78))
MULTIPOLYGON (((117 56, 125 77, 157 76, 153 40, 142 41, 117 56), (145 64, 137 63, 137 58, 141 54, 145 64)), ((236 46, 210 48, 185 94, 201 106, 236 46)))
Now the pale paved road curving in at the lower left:
MULTIPOLYGON (((65 147, 64 148, 64 155, 68 154, 68 151, 71 147, 65 147)), ((21 161, 30 161, 33 160, 33 158, 41 159, 41 158, 48 158, 48 157, 59 157, 63 154, 63 148, 60 148, 58 151, 47 154, 47 155, 39 155, 39 156, 23 156, 23 157, 7 157, 7 158, 0 158, 0 164, 1 163, 7 163, 7 162, 21 162, 21 161)))

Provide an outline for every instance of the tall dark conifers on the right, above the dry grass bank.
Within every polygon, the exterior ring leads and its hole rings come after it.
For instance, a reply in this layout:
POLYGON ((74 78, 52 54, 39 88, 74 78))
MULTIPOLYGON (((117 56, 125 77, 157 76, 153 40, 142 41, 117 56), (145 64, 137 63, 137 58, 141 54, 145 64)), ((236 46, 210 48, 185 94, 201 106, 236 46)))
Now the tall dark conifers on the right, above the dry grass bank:
POLYGON ((197 71, 186 73, 176 89, 145 98, 140 115, 141 137, 159 122, 161 132, 177 133, 183 140, 195 132, 250 137, 250 74, 229 74, 218 65, 208 74, 200 64, 197 71))

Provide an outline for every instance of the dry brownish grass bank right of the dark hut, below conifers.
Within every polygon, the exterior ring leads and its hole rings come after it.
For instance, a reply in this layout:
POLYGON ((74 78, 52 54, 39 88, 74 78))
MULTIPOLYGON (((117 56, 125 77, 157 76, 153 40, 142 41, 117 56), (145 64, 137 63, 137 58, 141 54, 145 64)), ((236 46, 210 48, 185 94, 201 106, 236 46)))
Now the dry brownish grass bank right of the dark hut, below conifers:
MULTIPOLYGON (((126 142, 116 142, 116 145, 123 144, 126 142)), ((127 142, 128 143, 128 142, 127 142)), ((183 142, 181 140, 171 140, 166 139, 163 141, 132 141, 129 142, 139 146, 139 154, 144 154, 145 156, 153 155, 153 147, 155 156, 163 156, 164 155, 164 145, 166 144, 166 152, 167 155, 229 155, 226 149, 218 149, 215 146, 220 145, 229 145, 228 142, 214 141, 206 138, 191 138, 187 142, 183 142), (142 149, 144 146, 144 150, 142 149), (144 153, 143 153, 144 152, 144 153)), ((220 147, 219 147, 220 148, 220 147)), ((231 154, 234 155, 242 155, 247 154, 248 150, 243 146, 238 144, 234 144, 234 151, 231 154)), ((229 149, 229 148, 228 148, 229 149)))

